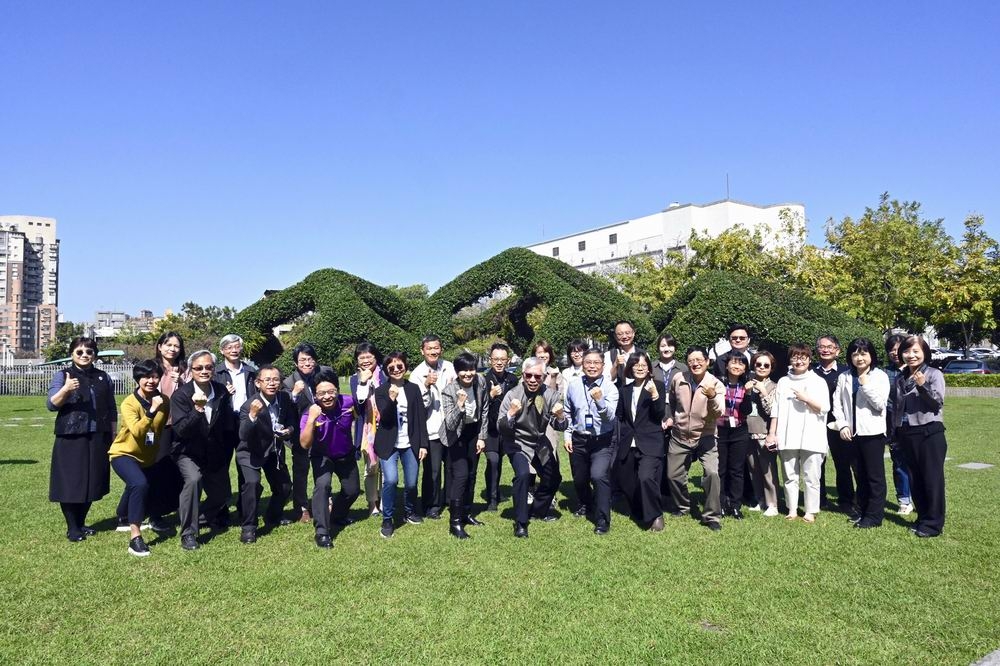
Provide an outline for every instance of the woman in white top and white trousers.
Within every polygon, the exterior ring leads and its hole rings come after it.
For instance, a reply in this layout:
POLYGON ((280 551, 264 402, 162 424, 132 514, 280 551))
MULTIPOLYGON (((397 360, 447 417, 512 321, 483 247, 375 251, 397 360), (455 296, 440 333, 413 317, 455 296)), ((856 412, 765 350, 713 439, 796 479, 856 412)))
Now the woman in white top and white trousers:
POLYGON ((819 513, 820 474, 826 441, 826 415, 830 411, 830 390, 826 381, 809 370, 812 347, 798 343, 788 348, 791 373, 778 380, 766 445, 778 445, 785 472, 785 503, 788 520, 798 517, 799 478, 805 483, 807 523, 819 513))

